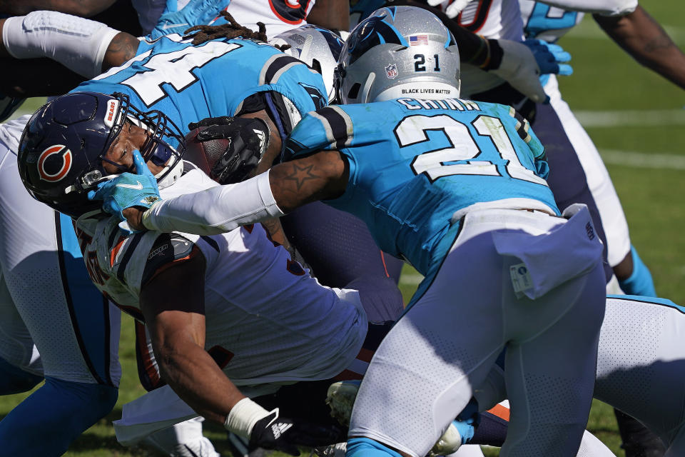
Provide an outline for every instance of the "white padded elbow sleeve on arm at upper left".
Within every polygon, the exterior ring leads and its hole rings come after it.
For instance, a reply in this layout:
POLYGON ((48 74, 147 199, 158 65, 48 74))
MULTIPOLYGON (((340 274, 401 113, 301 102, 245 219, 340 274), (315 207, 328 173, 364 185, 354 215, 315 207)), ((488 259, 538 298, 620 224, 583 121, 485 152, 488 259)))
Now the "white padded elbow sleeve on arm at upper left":
POLYGON ((102 73, 107 48, 119 31, 56 11, 6 19, 2 41, 15 59, 49 57, 86 78, 102 73))

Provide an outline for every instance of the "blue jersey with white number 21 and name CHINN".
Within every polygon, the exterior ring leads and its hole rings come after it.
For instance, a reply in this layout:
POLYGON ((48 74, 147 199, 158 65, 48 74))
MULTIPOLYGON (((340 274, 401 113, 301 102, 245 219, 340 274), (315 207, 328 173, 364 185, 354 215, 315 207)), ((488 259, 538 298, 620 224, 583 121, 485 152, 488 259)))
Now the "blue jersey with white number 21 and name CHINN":
POLYGON ((340 150, 350 165, 345 194, 325 203, 365 221, 383 251, 424 275, 446 253, 437 245, 455 211, 527 199, 559 214, 542 144, 509 106, 409 98, 329 106, 300 121, 283 158, 320 149, 340 150))

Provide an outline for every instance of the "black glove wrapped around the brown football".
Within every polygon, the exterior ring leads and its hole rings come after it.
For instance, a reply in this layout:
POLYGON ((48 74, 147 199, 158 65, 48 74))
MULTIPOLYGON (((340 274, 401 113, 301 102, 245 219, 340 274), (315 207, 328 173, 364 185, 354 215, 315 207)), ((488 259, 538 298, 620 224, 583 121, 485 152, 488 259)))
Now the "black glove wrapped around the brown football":
POLYGON ((262 159, 269 145, 270 131, 261 119, 210 117, 188 124, 188 128, 205 127, 197 141, 228 140, 223 154, 210 169, 210 178, 219 184, 243 181, 262 159))

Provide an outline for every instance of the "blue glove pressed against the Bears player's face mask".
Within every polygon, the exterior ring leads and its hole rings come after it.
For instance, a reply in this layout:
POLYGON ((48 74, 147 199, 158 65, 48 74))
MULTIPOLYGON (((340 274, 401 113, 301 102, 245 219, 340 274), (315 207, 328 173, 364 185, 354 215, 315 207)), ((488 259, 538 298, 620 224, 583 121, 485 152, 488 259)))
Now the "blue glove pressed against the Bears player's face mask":
POLYGON ((97 191, 88 192, 88 200, 101 200, 103 211, 125 221, 123 210, 131 206, 149 209, 160 201, 157 179, 153 176, 140 151, 133 151, 136 174, 122 173, 116 178, 98 184, 97 191))

